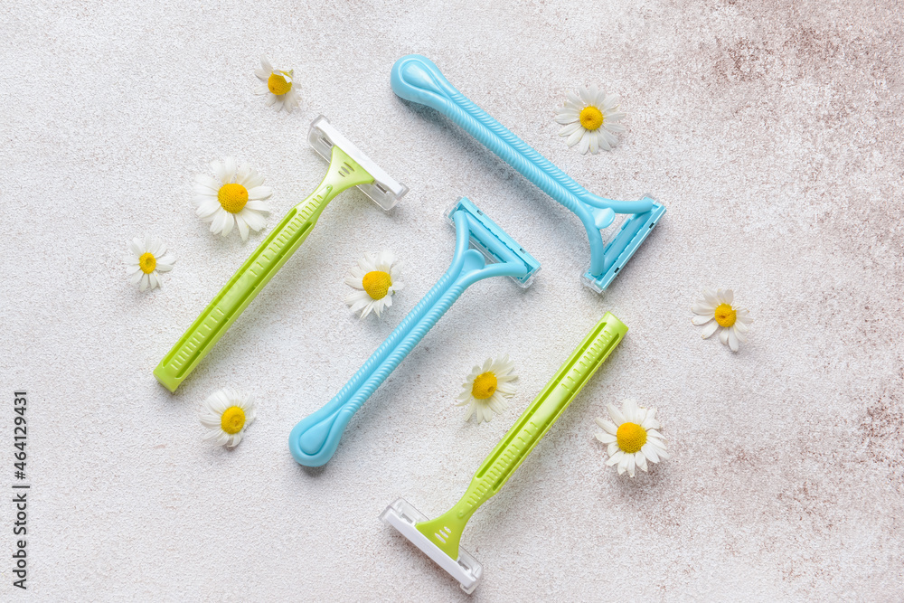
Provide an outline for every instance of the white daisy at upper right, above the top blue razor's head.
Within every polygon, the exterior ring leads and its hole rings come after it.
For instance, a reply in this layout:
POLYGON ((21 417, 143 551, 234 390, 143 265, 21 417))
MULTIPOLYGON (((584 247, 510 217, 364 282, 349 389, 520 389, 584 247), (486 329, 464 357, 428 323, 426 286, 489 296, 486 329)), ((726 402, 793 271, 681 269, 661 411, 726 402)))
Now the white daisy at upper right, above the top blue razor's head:
POLYGON ((617 134, 626 127, 618 122, 625 114, 618 110, 618 97, 606 94, 596 86, 581 88, 578 94, 568 93, 564 107, 556 108, 556 121, 565 127, 559 130, 560 137, 568 137, 568 146, 578 146, 581 155, 599 149, 611 151, 618 144, 617 134))

